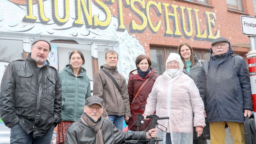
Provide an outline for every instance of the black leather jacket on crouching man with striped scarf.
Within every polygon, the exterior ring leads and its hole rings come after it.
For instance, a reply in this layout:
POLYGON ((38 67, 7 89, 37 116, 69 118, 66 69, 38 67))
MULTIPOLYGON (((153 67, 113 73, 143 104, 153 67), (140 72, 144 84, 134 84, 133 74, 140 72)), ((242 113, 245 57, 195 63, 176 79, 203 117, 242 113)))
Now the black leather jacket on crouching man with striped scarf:
MULTIPOLYGON (((112 122, 104 118, 101 127, 105 144, 121 144, 125 140, 137 140, 141 135, 140 139, 146 139, 146 133, 141 132, 121 132, 117 129, 112 122)), ((67 128, 65 144, 95 144, 96 133, 88 125, 82 122, 80 119, 72 123, 67 128)))

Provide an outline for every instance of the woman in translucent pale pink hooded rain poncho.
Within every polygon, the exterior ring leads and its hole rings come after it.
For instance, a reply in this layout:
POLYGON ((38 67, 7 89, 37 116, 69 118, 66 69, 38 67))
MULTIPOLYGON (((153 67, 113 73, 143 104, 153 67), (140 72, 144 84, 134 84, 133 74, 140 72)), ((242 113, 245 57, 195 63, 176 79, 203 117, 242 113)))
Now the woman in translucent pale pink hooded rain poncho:
POLYGON ((143 114, 147 116, 156 111, 159 117, 170 117, 158 120, 167 128, 166 144, 192 144, 193 127, 200 136, 205 126, 203 101, 194 81, 182 72, 183 67, 180 56, 170 53, 166 71, 156 79, 143 114))

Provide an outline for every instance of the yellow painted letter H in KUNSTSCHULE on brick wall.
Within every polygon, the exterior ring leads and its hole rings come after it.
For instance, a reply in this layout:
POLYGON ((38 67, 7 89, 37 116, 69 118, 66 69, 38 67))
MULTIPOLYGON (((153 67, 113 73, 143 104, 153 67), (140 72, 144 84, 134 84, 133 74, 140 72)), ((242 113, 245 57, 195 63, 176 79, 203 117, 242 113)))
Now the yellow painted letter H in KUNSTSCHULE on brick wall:
POLYGON ((172 35, 173 34, 172 30, 170 29, 170 22, 169 22, 169 16, 172 16, 172 17, 174 17, 173 23, 175 23, 174 35, 176 37, 180 37, 181 33, 179 31, 178 16, 177 16, 177 8, 178 8, 178 6, 172 4, 171 7, 173 8, 173 13, 169 13, 168 12, 168 7, 170 6, 170 4, 168 4, 168 3, 162 3, 162 4, 165 7, 165 19, 166 19, 165 35, 172 35))

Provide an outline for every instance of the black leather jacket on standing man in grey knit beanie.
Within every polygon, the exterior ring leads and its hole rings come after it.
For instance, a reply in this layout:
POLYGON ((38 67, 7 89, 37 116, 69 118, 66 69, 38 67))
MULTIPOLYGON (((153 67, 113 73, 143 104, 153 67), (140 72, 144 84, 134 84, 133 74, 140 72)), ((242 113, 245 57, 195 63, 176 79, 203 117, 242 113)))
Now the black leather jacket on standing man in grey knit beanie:
POLYGON ((37 137, 61 121, 61 84, 59 73, 48 61, 39 68, 30 55, 11 62, 5 70, 0 117, 7 127, 19 123, 37 137))

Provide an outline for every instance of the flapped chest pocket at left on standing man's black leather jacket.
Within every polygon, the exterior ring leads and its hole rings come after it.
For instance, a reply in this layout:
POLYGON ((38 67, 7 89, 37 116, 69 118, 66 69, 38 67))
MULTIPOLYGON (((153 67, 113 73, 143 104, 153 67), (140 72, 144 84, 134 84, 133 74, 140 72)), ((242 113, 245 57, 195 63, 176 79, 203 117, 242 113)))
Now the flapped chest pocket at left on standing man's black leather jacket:
POLYGON ((31 92, 31 82, 33 72, 16 71, 15 91, 31 92))

